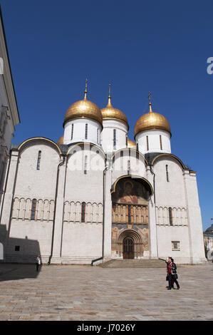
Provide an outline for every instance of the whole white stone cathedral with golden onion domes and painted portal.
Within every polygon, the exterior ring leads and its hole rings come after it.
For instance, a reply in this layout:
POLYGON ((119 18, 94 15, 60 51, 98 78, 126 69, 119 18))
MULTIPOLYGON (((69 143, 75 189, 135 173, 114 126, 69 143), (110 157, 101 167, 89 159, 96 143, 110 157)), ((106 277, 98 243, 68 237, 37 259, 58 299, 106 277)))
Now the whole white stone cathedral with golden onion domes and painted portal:
POLYGON ((4 262, 95 264, 109 259, 206 262, 196 172, 172 155, 167 119, 135 123, 87 98, 73 103, 64 134, 12 145, 1 199, 4 262))

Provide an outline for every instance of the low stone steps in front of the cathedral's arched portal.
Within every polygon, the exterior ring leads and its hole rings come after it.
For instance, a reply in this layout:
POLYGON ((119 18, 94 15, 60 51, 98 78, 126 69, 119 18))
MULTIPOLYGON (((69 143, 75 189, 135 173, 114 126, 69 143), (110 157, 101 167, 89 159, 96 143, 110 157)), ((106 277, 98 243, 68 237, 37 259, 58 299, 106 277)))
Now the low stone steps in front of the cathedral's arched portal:
POLYGON ((166 268, 160 259, 110 259, 98 265, 106 268, 166 268))

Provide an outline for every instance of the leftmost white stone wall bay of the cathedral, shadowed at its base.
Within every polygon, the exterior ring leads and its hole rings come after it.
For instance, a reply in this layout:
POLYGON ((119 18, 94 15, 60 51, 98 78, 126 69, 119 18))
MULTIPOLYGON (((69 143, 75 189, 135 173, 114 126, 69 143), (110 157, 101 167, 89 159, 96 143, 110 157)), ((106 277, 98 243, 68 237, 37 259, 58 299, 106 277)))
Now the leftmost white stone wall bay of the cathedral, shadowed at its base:
POLYGON ((58 163, 57 148, 45 140, 30 140, 19 152, 12 153, 1 216, 1 225, 6 225, 9 234, 4 243, 6 259, 29 262, 35 252, 43 259, 50 255, 58 163), (32 219, 33 199, 36 211, 32 219))

